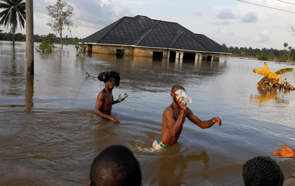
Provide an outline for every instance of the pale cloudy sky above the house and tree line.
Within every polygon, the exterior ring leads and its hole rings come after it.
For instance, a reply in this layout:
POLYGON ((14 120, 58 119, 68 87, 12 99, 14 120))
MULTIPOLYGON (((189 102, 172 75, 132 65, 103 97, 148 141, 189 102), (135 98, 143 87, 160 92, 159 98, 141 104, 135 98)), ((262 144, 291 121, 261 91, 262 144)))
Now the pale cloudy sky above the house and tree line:
MULTIPOLYGON (((154 20, 179 23, 194 33, 204 34, 228 47, 281 50, 284 49, 284 43, 295 47, 295 37, 290 29, 290 25, 295 26, 295 0, 63 1, 74 8, 72 20, 77 28, 72 30, 72 36, 78 38, 85 38, 124 16, 142 15, 154 20)), ((33 0, 34 34, 55 33, 46 25, 51 21, 46 6, 55 2, 33 0)), ((0 26, 3 32, 9 32, 9 28, 7 30, 7 27, 0 26)), ((26 30, 18 26, 16 33, 26 34, 26 30)), ((63 37, 66 35, 70 37, 69 31, 64 29, 63 37)))

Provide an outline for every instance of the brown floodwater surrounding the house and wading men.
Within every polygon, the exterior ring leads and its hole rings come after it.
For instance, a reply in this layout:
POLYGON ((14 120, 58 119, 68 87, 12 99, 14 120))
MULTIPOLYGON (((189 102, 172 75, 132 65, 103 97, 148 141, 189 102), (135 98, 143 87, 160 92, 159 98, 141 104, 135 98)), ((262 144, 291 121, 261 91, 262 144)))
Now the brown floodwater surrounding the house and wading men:
MULTIPOLYGON (((38 44, 35 44, 38 46, 38 44)), ((272 155, 281 143, 295 147, 295 91, 259 90, 263 69, 257 60, 220 62, 150 58, 76 57, 74 46, 34 53, 34 74, 26 76, 25 43, 0 41, 0 185, 83 186, 93 159, 110 145, 128 147, 139 160, 144 186, 242 186, 242 166, 270 156, 285 177, 295 161, 272 155), (86 72, 120 72, 129 94, 113 106, 119 124, 95 119, 96 96, 104 88, 86 72), (219 116, 222 125, 200 129, 186 119, 177 144, 152 152, 161 134, 171 87, 180 84, 193 97, 188 107, 202 120, 219 116)), ((268 62, 276 71, 293 68, 268 62)), ((283 78, 295 86, 295 72, 283 78)))

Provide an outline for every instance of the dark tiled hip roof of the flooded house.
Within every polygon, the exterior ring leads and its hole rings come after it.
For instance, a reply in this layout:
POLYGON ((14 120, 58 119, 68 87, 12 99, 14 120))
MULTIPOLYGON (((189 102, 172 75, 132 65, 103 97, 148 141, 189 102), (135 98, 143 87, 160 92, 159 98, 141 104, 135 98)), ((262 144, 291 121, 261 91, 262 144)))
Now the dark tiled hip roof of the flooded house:
POLYGON ((178 23, 152 20, 140 15, 119 19, 88 36, 85 43, 231 53, 205 35, 195 34, 178 23))

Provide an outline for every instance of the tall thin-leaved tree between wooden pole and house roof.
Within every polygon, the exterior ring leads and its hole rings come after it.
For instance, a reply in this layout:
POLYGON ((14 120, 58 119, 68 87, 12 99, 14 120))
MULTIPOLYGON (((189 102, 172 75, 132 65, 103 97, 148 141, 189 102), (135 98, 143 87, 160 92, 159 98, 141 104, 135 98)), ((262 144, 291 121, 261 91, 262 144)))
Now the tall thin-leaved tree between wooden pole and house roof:
POLYGON ((70 30, 70 28, 74 27, 74 22, 72 20, 72 16, 74 8, 71 5, 68 5, 66 2, 62 0, 57 0, 57 2, 53 6, 46 6, 48 11, 48 15, 51 16, 52 20, 46 25, 51 27, 51 30, 59 33, 61 47, 62 43, 62 30, 64 26, 70 30))

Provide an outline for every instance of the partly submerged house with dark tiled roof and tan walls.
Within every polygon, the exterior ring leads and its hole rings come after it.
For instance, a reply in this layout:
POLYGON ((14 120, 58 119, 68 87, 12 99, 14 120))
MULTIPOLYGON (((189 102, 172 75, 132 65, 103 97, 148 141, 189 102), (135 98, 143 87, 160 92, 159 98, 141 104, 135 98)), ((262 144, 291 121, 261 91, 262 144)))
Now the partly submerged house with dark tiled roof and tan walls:
POLYGON ((203 34, 195 34, 178 23, 152 20, 146 16, 123 17, 88 36, 88 53, 117 56, 219 61, 232 54, 203 34))

